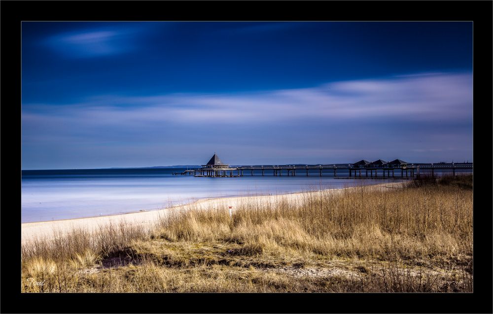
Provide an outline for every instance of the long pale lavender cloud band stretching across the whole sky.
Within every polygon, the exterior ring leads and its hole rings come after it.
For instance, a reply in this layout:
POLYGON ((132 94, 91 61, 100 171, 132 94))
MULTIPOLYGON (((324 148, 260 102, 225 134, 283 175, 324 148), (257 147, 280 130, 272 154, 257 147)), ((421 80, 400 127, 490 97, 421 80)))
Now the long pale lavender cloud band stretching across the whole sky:
POLYGON ((237 125, 240 121, 258 124, 329 118, 472 121, 472 75, 357 80, 249 94, 106 95, 67 106, 29 107, 23 116, 25 122, 35 117, 50 120, 63 117, 91 125, 128 126, 186 120, 196 124, 220 121, 237 125))

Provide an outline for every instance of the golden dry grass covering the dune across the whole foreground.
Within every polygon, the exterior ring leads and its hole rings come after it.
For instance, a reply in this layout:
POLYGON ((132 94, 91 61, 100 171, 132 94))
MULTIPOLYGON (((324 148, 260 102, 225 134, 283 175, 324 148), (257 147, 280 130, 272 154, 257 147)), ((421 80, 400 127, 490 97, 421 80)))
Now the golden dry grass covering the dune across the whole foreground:
POLYGON ((21 290, 472 291, 472 175, 303 195, 247 198, 232 217, 172 209, 151 234, 120 224, 31 242, 21 290))

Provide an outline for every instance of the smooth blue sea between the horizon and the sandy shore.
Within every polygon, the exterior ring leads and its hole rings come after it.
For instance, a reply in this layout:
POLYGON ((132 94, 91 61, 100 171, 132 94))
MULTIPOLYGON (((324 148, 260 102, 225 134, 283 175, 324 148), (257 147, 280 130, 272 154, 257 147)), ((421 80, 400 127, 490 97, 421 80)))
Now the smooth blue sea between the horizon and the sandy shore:
MULTIPOLYGON (((299 170, 296 177, 240 178, 174 176, 184 169, 23 170, 22 222, 62 220, 156 210, 200 198, 291 193, 379 184, 385 180, 334 179, 333 172, 299 170)), ((266 174, 268 172, 266 171, 266 174)), ((338 176, 349 173, 339 170, 338 176)), ((399 180, 391 180, 398 182, 399 180)))

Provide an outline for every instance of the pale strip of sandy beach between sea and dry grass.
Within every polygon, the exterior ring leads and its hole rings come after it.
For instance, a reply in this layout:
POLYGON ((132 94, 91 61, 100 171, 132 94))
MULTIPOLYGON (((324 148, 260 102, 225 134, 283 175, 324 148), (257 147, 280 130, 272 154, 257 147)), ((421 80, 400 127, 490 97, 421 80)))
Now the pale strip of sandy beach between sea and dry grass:
MULTIPOLYGON (((371 189, 390 189, 390 188, 401 188, 407 182, 397 182, 397 183, 384 183, 374 186, 367 186, 366 188, 371 189)), ((358 187, 356 187, 358 188, 358 187)), ((263 195, 263 196, 242 196, 242 197, 224 197, 224 198, 207 198, 200 199, 192 203, 182 204, 175 206, 173 208, 178 209, 228 209, 229 206, 232 210, 241 206, 241 204, 255 202, 257 204, 272 204, 275 205, 279 202, 294 202, 296 204, 302 204, 304 199, 310 194, 319 193, 341 193, 344 189, 325 189, 322 191, 310 191, 310 192, 296 192, 290 194, 277 194, 277 195, 263 195)), ((89 231, 98 229, 107 224, 118 224, 122 221, 129 224, 141 224, 144 228, 150 229, 154 226, 155 222, 159 217, 163 217, 170 212, 170 208, 153 210, 153 211, 143 211, 137 213, 128 213, 120 215, 102 216, 102 217, 91 217, 91 218, 79 218, 70 220, 54 220, 54 221, 42 221, 42 222, 28 222, 21 223, 21 239, 22 242, 29 241, 34 238, 50 238, 53 236, 54 232, 69 232, 74 228, 83 228, 89 231)))

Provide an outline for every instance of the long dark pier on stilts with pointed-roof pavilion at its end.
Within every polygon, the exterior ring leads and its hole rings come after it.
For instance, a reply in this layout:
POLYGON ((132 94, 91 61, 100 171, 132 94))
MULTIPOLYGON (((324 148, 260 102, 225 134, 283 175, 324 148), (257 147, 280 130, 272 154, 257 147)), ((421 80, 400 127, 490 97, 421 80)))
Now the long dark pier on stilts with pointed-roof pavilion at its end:
MULTIPOLYGON (((337 178, 341 171, 354 179, 364 178, 414 178, 420 175, 435 175, 435 170, 452 170, 456 175, 456 170, 472 170, 472 162, 468 163, 408 163, 400 159, 387 162, 378 159, 374 162, 361 160, 348 164, 332 165, 251 165, 251 166, 229 166, 221 162, 216 154, 211 160, 203 165, 202 168, 189 169, 179 173, 180 175, 191 175, 195 177, 243 177, 245 174, 250 176, 274 176, 274 177, 296 177, 296 176, 320 176, 332 174, 337 178)), ((178 173, 176 173, 178 174, 178 173)))

